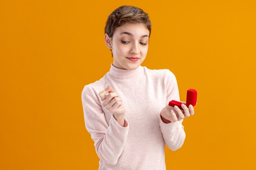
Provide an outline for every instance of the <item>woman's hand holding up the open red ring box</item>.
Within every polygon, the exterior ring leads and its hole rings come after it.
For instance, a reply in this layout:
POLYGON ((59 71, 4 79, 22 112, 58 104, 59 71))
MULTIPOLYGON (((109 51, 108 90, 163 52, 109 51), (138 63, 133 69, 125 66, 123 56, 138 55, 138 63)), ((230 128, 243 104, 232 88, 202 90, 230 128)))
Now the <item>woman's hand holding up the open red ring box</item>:
MULTIPOLYGON (((184 119, 186 117, 189 117, 190 115, 193 115, 194 112, 194 107, 192 106, 191 108, 186 107, 186 102, 181 101, 182 108, 181 110, 179 107, 171 107, 168 104, 164 107, 164 109, 161 111, 161 117, 164 118, 162 119, 165 123, 170 123, 175 122, 175 121, 180 121, 181 119, 184 119)), ((197 104, 197 103, 196 103, 197 104)))

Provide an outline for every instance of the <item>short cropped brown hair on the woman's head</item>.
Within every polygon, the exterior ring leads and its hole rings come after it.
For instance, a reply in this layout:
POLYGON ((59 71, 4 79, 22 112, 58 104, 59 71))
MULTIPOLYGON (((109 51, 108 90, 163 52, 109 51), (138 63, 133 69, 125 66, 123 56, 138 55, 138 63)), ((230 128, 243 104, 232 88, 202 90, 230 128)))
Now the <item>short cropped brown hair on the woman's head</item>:
POLYGON ((145 26, 149 30, 149 37, 150 37, 151 22, 150 22, 148 13, 145 13, 142 9, 138 7, 128 6, 128 5, 123 5, 121 7, 118 7, 112 13, 110 13, 105 26, 105 34, 108 34, 109 38, 112 39, 115 29, 117 27, 121 27, 126 22, 133 22, 133 23, 138 22, 138 23, 145 24, 145 26))

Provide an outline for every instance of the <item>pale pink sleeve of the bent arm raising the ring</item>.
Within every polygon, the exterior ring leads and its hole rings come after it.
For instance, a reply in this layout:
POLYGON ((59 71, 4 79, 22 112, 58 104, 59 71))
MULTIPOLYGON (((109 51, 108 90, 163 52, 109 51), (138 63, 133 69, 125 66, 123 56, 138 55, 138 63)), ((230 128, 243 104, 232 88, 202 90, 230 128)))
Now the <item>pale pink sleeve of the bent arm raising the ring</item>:
POLYGON ((105 118, 98 92, 88 85, 83 88, 81 97, 85 128, 91 134, 96 153, 104 164, 116 165, 123 152, 129 131, 128 121, 124 127, 112 115, 109 125, 105 118))

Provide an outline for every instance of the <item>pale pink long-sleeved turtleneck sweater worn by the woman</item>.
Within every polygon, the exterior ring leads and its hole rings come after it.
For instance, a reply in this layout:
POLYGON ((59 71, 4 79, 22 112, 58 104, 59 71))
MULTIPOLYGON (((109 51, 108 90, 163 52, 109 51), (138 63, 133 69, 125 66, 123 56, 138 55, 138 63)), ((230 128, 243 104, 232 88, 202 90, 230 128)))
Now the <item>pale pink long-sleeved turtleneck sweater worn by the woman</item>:
POLYGON ((165 144, 175 151, 184 143, 182 120, 164 123, 160 112, 171 100, 180 101, 175 75, 168 69, 118 69, 111 63, 103 78, 82 91, 85 127, 91 134, 99 170, 166 170, 165 144), (102 105, 105 82, 126 109, 124 127, 102 105))

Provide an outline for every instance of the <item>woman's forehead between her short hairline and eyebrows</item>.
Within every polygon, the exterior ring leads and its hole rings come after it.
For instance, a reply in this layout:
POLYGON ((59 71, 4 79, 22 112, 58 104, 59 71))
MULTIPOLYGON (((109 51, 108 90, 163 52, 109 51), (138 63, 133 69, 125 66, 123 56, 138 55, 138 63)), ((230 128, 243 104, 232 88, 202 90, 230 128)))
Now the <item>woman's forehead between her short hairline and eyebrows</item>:
POLYGON ((149 35, 149 30, 143 23, 125 23, 124 25, 117 27, 113 36, 128 36, 127 34, 121 34, 122 32, 129 32, 133 36, 149 35), (120 35, 121 34, 121 35, 120 35))

